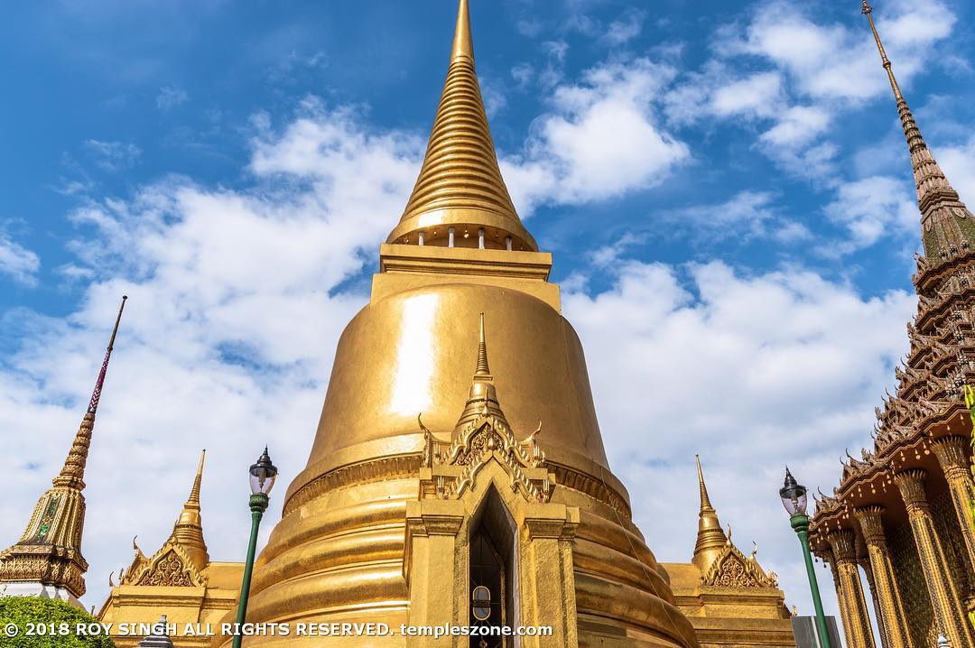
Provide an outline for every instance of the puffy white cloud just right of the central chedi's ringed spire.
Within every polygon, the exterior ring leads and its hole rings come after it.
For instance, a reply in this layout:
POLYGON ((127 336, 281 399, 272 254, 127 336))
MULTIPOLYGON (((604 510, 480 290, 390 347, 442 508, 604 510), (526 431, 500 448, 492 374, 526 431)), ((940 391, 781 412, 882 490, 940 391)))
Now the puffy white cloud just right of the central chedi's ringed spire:
POLYGON ((686 160, 687 145, 657 126, 651 107, 673 75, 640 58, 605 63, 582 83, 559 86, 552 111, 532 125, 525 153, 503 165, 519 209, 620 196, 653 186, 686 160))

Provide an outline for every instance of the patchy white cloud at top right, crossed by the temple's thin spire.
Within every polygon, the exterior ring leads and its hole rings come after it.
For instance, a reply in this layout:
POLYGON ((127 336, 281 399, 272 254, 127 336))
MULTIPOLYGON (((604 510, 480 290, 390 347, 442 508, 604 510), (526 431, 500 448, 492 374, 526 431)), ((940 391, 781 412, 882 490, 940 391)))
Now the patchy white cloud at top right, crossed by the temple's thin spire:
MULTIPOLYGON (((955 15, 938 0, 897 2, 875 13, 902 86, 931 64, 955 15)), ((866 19, 823 20, 808 5, 771 0, 716 32, 714 56, 665 96, 668 120, 746 120, 761 127, 757 148, 787 172, 835 180, 839 142, 829 125, 867 99, 889 95, 866 19), (859 28, 858 28, 859 27, 859 28)))

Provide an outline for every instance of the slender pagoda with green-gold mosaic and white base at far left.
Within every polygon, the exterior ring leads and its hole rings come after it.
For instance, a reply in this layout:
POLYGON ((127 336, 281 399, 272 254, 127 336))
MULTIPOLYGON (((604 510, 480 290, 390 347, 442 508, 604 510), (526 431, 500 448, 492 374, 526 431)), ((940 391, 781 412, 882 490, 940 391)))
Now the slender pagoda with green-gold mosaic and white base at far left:
POLYGON ((59 598, 81 606, 78 598, 85 593, 85 572, 88 570, 88 562, 81 553, 85 526, 85 496, 81 491, 85 489, 85 466, 95 430, 98 400, 101 399, 126 299, 128 297, 122 297, 95 390, 64 466, 54 478, 52 487, 37 500, 20 541, 0 552, 0 596, 59 598))

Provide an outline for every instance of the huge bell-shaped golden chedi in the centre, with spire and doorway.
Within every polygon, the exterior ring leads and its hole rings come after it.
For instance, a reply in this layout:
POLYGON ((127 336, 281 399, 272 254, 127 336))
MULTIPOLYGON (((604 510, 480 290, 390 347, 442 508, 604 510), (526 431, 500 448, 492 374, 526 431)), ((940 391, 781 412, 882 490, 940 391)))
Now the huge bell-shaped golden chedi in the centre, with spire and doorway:
POLYGON ((551 265, 498 170, 461 0, 422 171, 370 303, 339 340, 308 465, 255 566, 249 623, 376 622, 397 636, 316 645, 459 646, 480 644, 400 625, 468 626, 477 613, 553 628, 526 647, 697 646, 607 467, 551 265))

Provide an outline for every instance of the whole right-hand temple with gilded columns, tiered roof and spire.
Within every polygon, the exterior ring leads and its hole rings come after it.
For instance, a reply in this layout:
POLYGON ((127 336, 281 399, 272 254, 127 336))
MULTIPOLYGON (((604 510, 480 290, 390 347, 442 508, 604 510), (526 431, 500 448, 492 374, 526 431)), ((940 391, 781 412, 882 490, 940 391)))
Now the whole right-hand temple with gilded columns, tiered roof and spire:
POLYGON ((907 137, 924 255, 897 390, 877 408, 873 447, 847 455, 839 487, 817 499, 811 538, 832 569, 848 646, 877 645, 873 608, 884 648, 939 637, 973 648, 975 488, 963 388, 975 382, 975 216, 925 144, 866 0, 864 14, 907 137))

